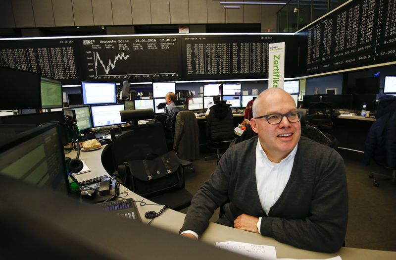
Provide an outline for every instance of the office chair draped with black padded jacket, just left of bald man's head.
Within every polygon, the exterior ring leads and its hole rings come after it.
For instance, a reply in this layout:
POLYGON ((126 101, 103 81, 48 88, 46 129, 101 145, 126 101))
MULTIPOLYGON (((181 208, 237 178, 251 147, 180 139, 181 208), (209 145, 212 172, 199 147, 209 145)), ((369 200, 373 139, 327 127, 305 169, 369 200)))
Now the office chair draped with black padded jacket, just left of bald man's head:
POLYGON ((235 139, 232 111, 225 101, 216 101, 215 105, 210 107, 206 118, 206 137, 208 148, 216 150, 216 154, 204 159, 217 158, 219 161, 222 156, 220 150, 227 149, 235 139))

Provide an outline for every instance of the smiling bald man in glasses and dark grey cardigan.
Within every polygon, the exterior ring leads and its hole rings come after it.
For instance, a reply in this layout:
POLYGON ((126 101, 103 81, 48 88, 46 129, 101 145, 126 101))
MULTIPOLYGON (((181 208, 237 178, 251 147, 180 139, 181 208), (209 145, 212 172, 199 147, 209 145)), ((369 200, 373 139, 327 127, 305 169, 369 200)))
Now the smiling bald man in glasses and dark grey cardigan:
POLYGON ((197 239, 228 201, 220 224, 306 250, 338 251, 347 230, 344 161, 334 149, 301 137, 299 120, 287 92, 262 92, 250 121, 258 136, 222 156, 194 196, 181 235, 197 239))

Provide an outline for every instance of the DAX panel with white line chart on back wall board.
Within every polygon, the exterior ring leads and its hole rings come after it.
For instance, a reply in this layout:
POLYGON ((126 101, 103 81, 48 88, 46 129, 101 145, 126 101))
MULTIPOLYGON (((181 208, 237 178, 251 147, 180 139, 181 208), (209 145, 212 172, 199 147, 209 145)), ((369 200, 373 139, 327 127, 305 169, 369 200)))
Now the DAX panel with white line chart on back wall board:
POLYGON ((175 80, 180 76, 180 43, 174 38, 82 40, 87 79, 175 80))

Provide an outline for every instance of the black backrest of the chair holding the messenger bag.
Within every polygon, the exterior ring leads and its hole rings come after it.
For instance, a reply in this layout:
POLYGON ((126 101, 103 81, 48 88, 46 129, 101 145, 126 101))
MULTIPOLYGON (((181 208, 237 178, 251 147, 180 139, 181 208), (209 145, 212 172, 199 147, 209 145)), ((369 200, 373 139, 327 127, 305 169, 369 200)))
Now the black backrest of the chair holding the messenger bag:
POLYGON ((161 123, 117 127, 110 130, 115 165, 168 152, 161 123))

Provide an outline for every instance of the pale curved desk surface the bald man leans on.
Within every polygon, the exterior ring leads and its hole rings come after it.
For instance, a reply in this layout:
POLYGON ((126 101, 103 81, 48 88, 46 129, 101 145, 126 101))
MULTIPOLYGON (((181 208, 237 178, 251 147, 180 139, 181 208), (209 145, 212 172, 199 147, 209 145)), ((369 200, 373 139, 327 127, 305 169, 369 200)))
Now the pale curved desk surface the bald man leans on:
MULTIPOLYGON (((104 175, 106 172, 100 162, 100 155, 103 147, 100 150, 92 152, 81 152, 80 159, 91 169, 91 172, 77 175, 78 180, 87 180, 96 176, 104 175)), ((76 152, 73 151, 69 155, 75 157, 76 152)), ((121 196, 126 195, 128 198, 133 198, 135 201, 141 201, 144 198, 129 191, 125 187, 120 188, 121 196), (125 192, 124 194, 122 194, 125 192)), ((144 199, 145 202, 150 201, 144 199)), ((144 213, 149 210, 159 211, 159 206, 140 206, 137 202, 139 213, 144 223, 148 223, 148 220, 144 217, 144 213)), ((172 233, 179 233, 179 229, 183 225, 185 214, 172 210, 166 209, 159 217, 155 218, 151 225, 159 227, 161 229, 168 230, 172 233)), ((395 260, 396 252, 391 251, 379 251, 379 250, 368 250, 358 248, 343 247, 341 250, 334 254, 317 253, 307 250, 302 250, 289 246, 287 244, 280 243, 273 238, 261 236, 260 234, 251 233, 248 231, 239 230, 236 228, 226 227, 216 223, 210 223, 207 230, 200 237, 200 241, 215 245, 216 242, 225 241, 237 241, 246 242, 259 245, 275 246, 277 258, 295 258, 295 259, 326 259, 340 255, 343 260, 395 260)))

